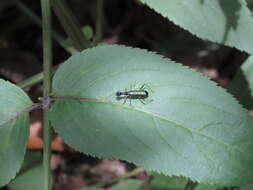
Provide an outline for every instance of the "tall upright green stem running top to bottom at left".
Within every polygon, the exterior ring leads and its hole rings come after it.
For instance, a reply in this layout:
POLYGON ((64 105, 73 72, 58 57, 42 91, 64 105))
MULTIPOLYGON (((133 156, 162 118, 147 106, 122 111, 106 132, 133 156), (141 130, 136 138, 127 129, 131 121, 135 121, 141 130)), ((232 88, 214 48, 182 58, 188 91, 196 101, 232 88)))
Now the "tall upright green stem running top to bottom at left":
MULTIPOLYGON (((52 34, 51 34, 51 6, 50 0, 41 0, 42 8, 42 34, 43 34, 43 97, 48 100, 51 91, 51 66, 52 66, 52 34)), ((48 107, 43 113, 43 167, 44 167, 44 190, 51 190, 51 126, 49 123, 48 107)))

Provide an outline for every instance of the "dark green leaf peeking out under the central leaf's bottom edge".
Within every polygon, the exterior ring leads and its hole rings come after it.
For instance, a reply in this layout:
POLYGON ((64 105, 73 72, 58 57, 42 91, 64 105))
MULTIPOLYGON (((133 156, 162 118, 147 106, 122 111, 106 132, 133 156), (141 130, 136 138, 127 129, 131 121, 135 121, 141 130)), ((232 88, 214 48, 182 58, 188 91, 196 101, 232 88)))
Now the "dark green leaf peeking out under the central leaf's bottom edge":
MULTIPOLYGON (((168 177, 152 173, 150 190, 184 190, 188 180, 183 177, 168 177)), ((194 190, 216 190, 218 187, 198 184, 194 190)))

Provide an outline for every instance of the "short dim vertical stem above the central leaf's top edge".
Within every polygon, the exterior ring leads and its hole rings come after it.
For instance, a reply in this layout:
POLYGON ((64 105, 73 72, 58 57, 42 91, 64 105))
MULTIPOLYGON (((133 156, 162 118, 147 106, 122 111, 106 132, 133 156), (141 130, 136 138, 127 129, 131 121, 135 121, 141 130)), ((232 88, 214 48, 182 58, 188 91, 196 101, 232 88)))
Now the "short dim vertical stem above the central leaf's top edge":
POLYGON ((98 44, 103 35, 103 20, 104 20, 104 0, 97 0, 97 20, 96 20, 96 35, 95 44, 98 44))

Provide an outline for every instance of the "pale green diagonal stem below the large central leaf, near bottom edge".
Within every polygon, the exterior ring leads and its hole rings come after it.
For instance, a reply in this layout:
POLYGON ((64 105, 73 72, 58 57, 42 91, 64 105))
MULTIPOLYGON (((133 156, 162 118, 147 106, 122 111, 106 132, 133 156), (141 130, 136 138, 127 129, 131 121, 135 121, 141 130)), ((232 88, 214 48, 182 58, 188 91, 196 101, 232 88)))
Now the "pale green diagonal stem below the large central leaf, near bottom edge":
POLYGON ((126 174, 122 175, 122 176, 119 176, 119 177, 116 177, 110 181, 106 181, 106 182, 102 182, 102 183, 98 183, 98 184, 95 184, 95 185, 91 185, 89 186, 88 188, 101 188, 105 185, 110 185, 110 184, 113 184, 113 183, 116 183, 118 181, 121 181, 123 179, 127 179, 127 178, 130 178, 130 177, 134 177, 142 172, 144 172, 144 168, 136 168, 134 169, 133 171, 130 171, 130 172, 127 172, 126 174))

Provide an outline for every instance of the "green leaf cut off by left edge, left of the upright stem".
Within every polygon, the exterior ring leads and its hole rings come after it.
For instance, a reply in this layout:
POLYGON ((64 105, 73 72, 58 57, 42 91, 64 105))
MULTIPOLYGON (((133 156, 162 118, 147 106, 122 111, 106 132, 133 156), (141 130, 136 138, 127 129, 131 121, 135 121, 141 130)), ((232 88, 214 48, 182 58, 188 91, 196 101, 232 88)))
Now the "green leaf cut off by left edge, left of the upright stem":
POLYGON ((21 112, 32 102, 19 87, 1 79, 0 94, 0 186, 3 186, 15 177, 23 162, 29 118, 28 113, 21 112))

